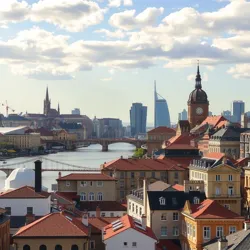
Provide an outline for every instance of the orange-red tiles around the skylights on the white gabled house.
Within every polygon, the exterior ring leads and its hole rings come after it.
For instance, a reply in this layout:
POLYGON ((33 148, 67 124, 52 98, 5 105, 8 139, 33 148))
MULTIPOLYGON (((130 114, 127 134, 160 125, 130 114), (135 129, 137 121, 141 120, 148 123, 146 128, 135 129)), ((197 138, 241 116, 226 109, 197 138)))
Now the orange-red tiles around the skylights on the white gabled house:
POLYGON ((148 237, 153 238, 154 240, 157 241, 157 238, 156 238, 153 230, 150 227, 146 227, 145 230, 136 227, 136 223, 131 216, 124 215, 123 217, 119 218, 119 220, 123 226, 118 230, 114 231, 112 224, 109 224, 108 226, 104 227, 104 231, 105 231, 104 240, 107 240, 111 237, 114 237, 115 235, 118 235, 118 234, 126 231, 127 229, 132 228, 132 229, 136 230, 137 232, 142 233, 144 235, 147 235, 148 237))

